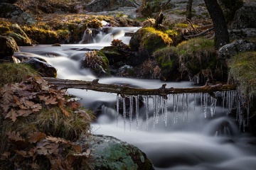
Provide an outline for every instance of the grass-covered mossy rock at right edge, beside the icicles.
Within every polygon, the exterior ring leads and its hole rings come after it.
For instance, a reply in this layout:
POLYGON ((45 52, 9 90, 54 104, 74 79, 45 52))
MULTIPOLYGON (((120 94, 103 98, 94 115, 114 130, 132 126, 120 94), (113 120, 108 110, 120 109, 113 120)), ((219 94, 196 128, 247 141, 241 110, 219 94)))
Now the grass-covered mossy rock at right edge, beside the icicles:
MULTIPOLYGON (((249 129, 256 135, 256 52, 240 52, 228 60, 229 83, 236 84, 245 97, 245 104, 250 106, 249 129), (250 97, 249 97, 250 96, 250 97), (249 102, 250 100, 250 102, 249 102)), ((247 106, 240 106, 247 117, 247 106)))

